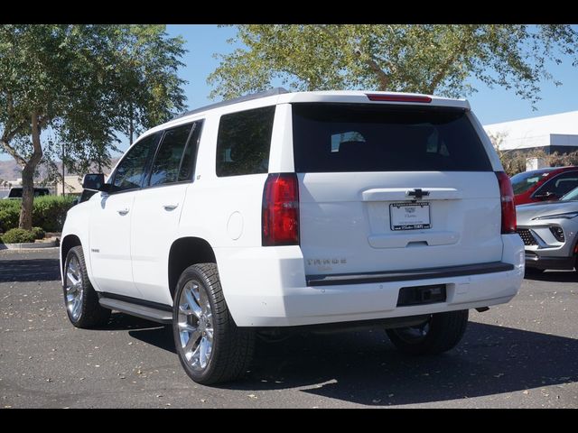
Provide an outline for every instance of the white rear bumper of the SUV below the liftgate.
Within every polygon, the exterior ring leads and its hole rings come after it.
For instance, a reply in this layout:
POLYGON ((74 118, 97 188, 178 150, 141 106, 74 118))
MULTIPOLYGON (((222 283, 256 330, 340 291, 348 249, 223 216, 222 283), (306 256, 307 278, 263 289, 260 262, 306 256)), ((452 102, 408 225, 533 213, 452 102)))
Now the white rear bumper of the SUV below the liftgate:
POLYGON ((225 299, 239 327, 290 327, 400 318, 508 302, 524 277, 524 245, 518 235, 502 237, 504 269, 508 271, 357 284, 308 285, 298 246, 219 248, 215 253, 225 299), (260 263, 259 268, 250 272, 255 263, 260 263), (239 275, 247 278, 241 281, 239 275), (444 302, 396 306, 401 288, 434 284, 446 285, 444 302))

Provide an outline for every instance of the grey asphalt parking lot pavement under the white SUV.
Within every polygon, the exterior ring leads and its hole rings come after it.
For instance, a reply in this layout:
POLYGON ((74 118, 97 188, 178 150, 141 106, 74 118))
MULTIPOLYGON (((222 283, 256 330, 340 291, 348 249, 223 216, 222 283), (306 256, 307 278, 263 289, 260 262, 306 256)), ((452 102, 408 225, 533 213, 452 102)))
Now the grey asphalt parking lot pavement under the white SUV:
POLYGON ((247 377, 197 385, 171 330, 120 313, 72 327, 58 250, 0 251, 0 408, 578 408, 578 274, 471 311, 458 348, 401 355, 378 329, 259 343, 247 377))

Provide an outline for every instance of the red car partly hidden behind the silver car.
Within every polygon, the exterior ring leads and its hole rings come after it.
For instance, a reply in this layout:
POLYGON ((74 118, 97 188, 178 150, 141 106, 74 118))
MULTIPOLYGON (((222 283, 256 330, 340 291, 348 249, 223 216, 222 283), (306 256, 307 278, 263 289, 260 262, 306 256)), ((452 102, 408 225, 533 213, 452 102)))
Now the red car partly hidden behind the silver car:
POLYGON ((512 176, 514 203, 523 205, 558 200, 578 187, 578 167, 548 167, 512 176))

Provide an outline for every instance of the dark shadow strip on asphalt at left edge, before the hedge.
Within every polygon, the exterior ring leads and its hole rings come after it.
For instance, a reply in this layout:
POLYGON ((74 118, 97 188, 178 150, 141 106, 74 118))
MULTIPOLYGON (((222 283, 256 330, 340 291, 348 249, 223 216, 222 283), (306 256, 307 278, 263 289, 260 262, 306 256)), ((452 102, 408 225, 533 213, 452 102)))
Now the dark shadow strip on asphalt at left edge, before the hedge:
POLYGON ((58 259, 0 260, 0 282, 60 279, 58 259))

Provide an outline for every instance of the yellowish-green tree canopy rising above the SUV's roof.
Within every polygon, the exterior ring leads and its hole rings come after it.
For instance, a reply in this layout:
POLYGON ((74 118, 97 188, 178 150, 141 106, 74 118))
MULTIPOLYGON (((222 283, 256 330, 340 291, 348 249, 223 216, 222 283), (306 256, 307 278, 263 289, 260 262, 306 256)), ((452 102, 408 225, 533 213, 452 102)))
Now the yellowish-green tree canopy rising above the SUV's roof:
MULTIPOLYGON (((459 97, 467 79, 513 88, 535 104, 547 60, 573 65, 578 32, 545 24, 237 25, 247 48, 219 55, 211 97, 237 97, 281 80, 296 90, 375 89, 459 97)), ((556 82, 556 84, 559 84, 556 82)))

